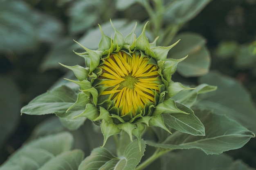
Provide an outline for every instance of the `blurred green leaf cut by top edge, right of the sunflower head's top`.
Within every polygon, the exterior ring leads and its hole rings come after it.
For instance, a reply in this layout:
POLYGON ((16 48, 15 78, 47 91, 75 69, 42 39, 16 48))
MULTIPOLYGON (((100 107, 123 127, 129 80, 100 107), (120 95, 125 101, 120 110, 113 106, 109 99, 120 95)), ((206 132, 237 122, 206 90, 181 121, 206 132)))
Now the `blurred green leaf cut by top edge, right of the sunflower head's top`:
POLYGON ((165 13, 165 19, 172 24, 180 24, 194 18, 210 0, 179 0, 170 5, 165 13))

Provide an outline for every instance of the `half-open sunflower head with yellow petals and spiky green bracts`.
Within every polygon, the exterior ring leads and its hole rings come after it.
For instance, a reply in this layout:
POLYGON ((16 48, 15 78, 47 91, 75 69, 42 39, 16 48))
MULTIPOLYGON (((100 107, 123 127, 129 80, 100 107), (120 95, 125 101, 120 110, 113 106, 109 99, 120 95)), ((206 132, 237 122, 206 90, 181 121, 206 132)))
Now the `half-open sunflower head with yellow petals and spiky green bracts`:
POLYGON ((146 24, 138 38, 135 28, 123 38, 113 26, 112 39, 99 26, 99 49, 90 50, 80 44, 85 52, 76 53, 85 59, 85 67, 62 64, 74 72, 79 81, 70 81, 81 88, 76 103, 68 110, 84 106, 85 111, 76 117, 87 117, 100 124, 104 144, 121 130, 131 140, 133 135, 139 141, 145 126, 158 126, 169 132, 161 111, 155 108, 172 97, 171 75, 184 58, 167 59, 168 51, 177 42, 167 47, 156 46, 156 40, 149 43, 146 38, 146 24))

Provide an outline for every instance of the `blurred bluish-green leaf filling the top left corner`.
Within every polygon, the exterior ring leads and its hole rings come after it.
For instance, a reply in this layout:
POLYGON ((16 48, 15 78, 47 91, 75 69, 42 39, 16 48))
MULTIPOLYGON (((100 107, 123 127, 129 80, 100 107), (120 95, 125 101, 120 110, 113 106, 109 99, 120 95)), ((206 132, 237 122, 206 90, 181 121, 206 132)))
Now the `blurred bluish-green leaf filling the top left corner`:
POLYGON ((56 42, 61 23, 29 7, 21 0, 0 1, 0 51, 26 52, 39 42, 56 42))

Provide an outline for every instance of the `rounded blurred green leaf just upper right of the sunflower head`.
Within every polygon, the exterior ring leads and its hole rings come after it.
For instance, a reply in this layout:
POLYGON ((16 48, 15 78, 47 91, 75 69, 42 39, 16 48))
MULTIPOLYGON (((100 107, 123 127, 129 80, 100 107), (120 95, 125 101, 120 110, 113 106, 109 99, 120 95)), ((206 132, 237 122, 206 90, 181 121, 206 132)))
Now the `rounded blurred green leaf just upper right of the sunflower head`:
POLYGON ((178 64, 177 71, 184 77, 205 75, 210 67, 210 54, 205 46, 205 39, 195 33, 177 35, 173 42, 180 42, 170 51, 169 56, 180 59, 189 55, 186 60, 178 64))

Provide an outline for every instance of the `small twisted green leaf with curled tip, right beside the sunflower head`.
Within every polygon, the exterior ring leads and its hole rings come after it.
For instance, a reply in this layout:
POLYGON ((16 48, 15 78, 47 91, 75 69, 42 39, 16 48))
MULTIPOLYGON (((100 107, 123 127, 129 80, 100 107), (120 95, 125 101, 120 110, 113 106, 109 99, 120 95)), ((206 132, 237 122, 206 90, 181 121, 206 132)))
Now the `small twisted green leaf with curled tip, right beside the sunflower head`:
POLYGON ((216 89, 217 89, 216 86, 210 86, 208 84, 200 84, 194 90, 180 91, 173 97, 173 99, 178 103, 182 103, 188 107, 191 107, 195 103, 199 94, 215 91, 216 89))

